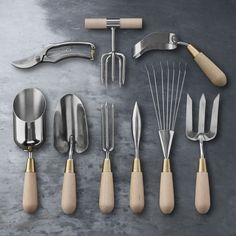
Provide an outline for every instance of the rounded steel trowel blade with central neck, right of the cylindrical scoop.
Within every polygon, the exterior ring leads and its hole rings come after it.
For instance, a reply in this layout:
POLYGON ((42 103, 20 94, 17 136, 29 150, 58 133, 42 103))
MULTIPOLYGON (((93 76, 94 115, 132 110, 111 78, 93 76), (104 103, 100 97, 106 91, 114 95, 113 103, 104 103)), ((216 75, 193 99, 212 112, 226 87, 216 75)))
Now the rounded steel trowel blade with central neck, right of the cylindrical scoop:
POLYGON ((54 146, 60 153, 82 153, 89 145, 86 111, 82 101, 66 94, 57 105, 54 115, 54 146))

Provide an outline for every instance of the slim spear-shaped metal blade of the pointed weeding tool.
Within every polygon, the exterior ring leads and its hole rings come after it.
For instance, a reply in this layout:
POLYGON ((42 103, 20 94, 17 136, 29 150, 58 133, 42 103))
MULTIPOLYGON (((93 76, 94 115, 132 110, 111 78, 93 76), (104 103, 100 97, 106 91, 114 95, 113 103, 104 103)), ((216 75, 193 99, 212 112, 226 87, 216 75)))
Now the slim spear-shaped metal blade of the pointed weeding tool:
POLYGON ((132 134, 134 140, 135 158, 139 158, 139 142, 141 138, 141 128, 142 128, 141 115, 138 103, 135 102, 132 115, 132 134))

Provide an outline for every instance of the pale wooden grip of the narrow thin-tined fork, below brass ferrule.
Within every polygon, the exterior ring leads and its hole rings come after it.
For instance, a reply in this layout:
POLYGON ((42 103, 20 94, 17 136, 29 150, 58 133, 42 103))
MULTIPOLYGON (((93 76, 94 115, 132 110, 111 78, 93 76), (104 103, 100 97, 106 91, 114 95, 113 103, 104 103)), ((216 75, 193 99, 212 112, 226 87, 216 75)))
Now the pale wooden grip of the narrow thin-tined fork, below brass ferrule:
POLYGON ((109 214, 114 209, 114 184, 112 172, 104 171, 101 174, 99 208, 102 213, 109 214))

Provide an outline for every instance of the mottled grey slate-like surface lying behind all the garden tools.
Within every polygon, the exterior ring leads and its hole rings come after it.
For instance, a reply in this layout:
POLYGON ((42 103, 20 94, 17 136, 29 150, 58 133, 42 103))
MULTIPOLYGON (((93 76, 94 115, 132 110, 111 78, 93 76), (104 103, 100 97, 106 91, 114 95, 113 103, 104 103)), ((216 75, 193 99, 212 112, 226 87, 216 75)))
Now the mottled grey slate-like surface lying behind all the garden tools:
POLYGON ((235 41, 236 1, 0 1, 0 235, 236 235, 235 188, 235 41), (99 80, 101 52, 110 48, 109 31, 88 31, 85 17, 143 17, 143 30, 123 30, 117 35, 120 51, 127 55, 127 83, 124 88, 106 91, 99 80), (225 70, 229 84, 214 87, 194 64, 184 48, 173 52, 149 53, 138 61, 131 48, 153 31, 174 31, 192 42, 225 70), (71 59, 58 64, 18 70, 10 62, 31 55, 51 42, 91 41, 97 45, 97 60, 71 59), (172 149, 176 208, 164 216, 158 207, 162 153, 144 63, 183 60, 189 63, 176 136, 172 149), (40 88, 48 102, 47 140, 35 153, 38 171, 39 209, 27 215, 21 207, 26 153, 12 138, 12 102, 25 87, 40 88), (212 208, 200 216, 194 209, 194 184, 199 148, 188 141, 185 129, 185 98, 206 93, 209 102, 221 93, 219 133, 206 144, 210 172, 212 208), (83 100, 88 115, 90 146, 76 156, 78 208, 74 215, 60 209, 63 169, 66 156, 53 147, 52 121, 55 106, 66 93, 83 100), (98 209, 100 166, 100 103, 116 105, 115 209, 104 216, 98 209), (133 156, 130 117, 135 100, 143 119, 141 156, 145 181, 146 207, 133 215, 128 207, 129 179, 133 156))

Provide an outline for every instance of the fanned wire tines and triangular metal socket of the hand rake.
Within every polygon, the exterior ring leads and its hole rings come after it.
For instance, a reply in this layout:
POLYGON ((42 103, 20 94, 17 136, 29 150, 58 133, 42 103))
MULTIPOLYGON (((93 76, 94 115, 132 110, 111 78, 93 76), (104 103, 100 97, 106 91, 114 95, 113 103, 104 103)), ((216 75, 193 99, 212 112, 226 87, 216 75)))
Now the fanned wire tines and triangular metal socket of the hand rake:
POLYGON ((146 66, 146 71, 163 155, 169 158, 186 77, 186 64, 179 63, 176 68, 175 63, 171 66, 168 62, 166 65, 160 63, 160 81, 157 80, 158 75, 153 65, 151 70, 146 66))

